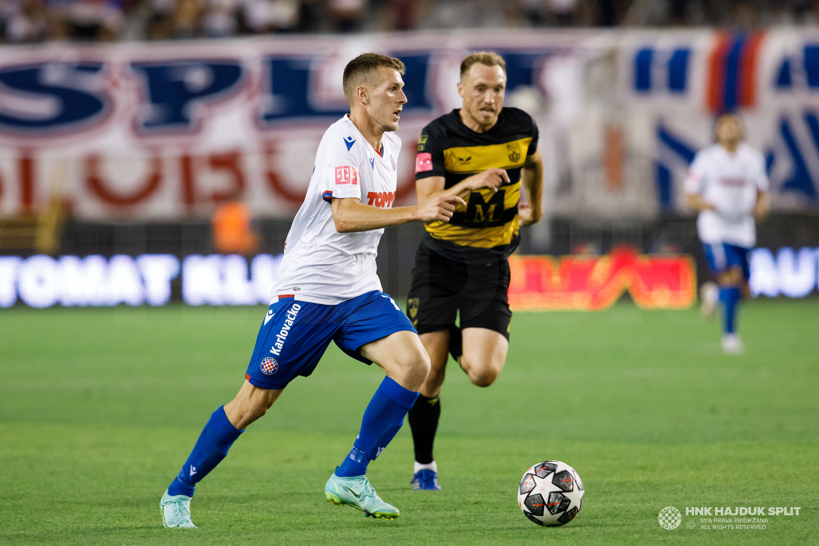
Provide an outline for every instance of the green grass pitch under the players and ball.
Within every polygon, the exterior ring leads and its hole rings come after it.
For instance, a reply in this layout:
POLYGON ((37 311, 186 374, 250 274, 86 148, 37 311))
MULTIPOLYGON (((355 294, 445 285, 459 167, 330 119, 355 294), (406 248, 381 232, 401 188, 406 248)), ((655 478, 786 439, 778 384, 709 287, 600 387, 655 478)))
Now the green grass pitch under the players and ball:
POLYGON ((0 310, 0 544, 817 544, 817 298, 744 305, 738 357, 696 309, 515 314, 494 386, 450 362, 443 490, 410 489, 409 426, 370 465, 396 521, 324 500, 382 378, 331 345, 198 486, 199 528, 166 530, 162 491, 241 385, 264 313, 0 310), (545 459, 586 483, 567 526, 535 526, 515 500, 545 459), (685 516, 697 506, 801 511, 704 530, 685 516))

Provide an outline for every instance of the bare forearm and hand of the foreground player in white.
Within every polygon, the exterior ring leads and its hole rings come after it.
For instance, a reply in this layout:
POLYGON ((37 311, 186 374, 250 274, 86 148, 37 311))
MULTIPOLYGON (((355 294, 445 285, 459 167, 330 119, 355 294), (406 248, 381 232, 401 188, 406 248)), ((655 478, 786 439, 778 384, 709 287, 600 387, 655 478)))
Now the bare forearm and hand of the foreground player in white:
POLYGON ((382 209, 364 205, 355 197, 333 198, 333 222, 339 233, 369 232, 413 222, 449 222, 455 205, 466 205, 459 196, 438 196, 418 206, 382 209))

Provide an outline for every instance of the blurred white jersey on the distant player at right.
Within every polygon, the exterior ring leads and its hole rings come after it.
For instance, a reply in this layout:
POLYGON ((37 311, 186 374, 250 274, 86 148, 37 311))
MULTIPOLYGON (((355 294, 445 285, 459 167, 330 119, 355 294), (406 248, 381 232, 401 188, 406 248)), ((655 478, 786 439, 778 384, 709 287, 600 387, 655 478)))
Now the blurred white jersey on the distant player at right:
POLYGON ((699 239, 751 248, 757 243, 753 206, 757 191, 767 192, 765 159, 744 142, 731 154, 719 144, 697 152, 688 170, 686 193, 699 193, 717 210, 703 210, 697 219, 699 239))

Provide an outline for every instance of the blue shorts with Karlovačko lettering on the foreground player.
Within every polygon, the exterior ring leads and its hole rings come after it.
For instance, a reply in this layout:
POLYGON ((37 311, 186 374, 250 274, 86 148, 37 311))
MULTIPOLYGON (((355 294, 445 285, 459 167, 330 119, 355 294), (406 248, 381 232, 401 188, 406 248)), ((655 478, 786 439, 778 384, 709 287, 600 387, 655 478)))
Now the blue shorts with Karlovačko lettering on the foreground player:
POLYGON ((256 337, 245 379, 262 389, 283 389, 296 376, 309 376, 330 341, 356 360, 362 345, 415 328, 390 296, 371 291, 338 305, 279 296, 270 304, 256 337))

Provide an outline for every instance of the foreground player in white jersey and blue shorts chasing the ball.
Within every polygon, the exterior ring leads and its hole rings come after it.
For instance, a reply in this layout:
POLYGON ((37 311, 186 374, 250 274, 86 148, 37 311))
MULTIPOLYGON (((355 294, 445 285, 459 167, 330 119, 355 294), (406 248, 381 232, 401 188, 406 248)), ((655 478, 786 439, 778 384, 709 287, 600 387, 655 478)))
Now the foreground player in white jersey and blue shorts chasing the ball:
POLYGON ((227 455, 245 427, 265 414, 287 383, 309 376, 330 341, 346 354, 386 372, 364 411, 353 447, 324 487, 328 502, 364 516, 395 519, 365 472, 396 435, 429 373, 418 334, 382 293, 375 256, 383 228, 449 221, 457 196, 393 209, 404 63, 364 53, 344 69, 350 114, 324 133, 305 202, 287 234, 273 299, 256 338, 245 382, 201 432, 182 471, 162 495, 166 527, 195 527, 194 486, 227 455))

